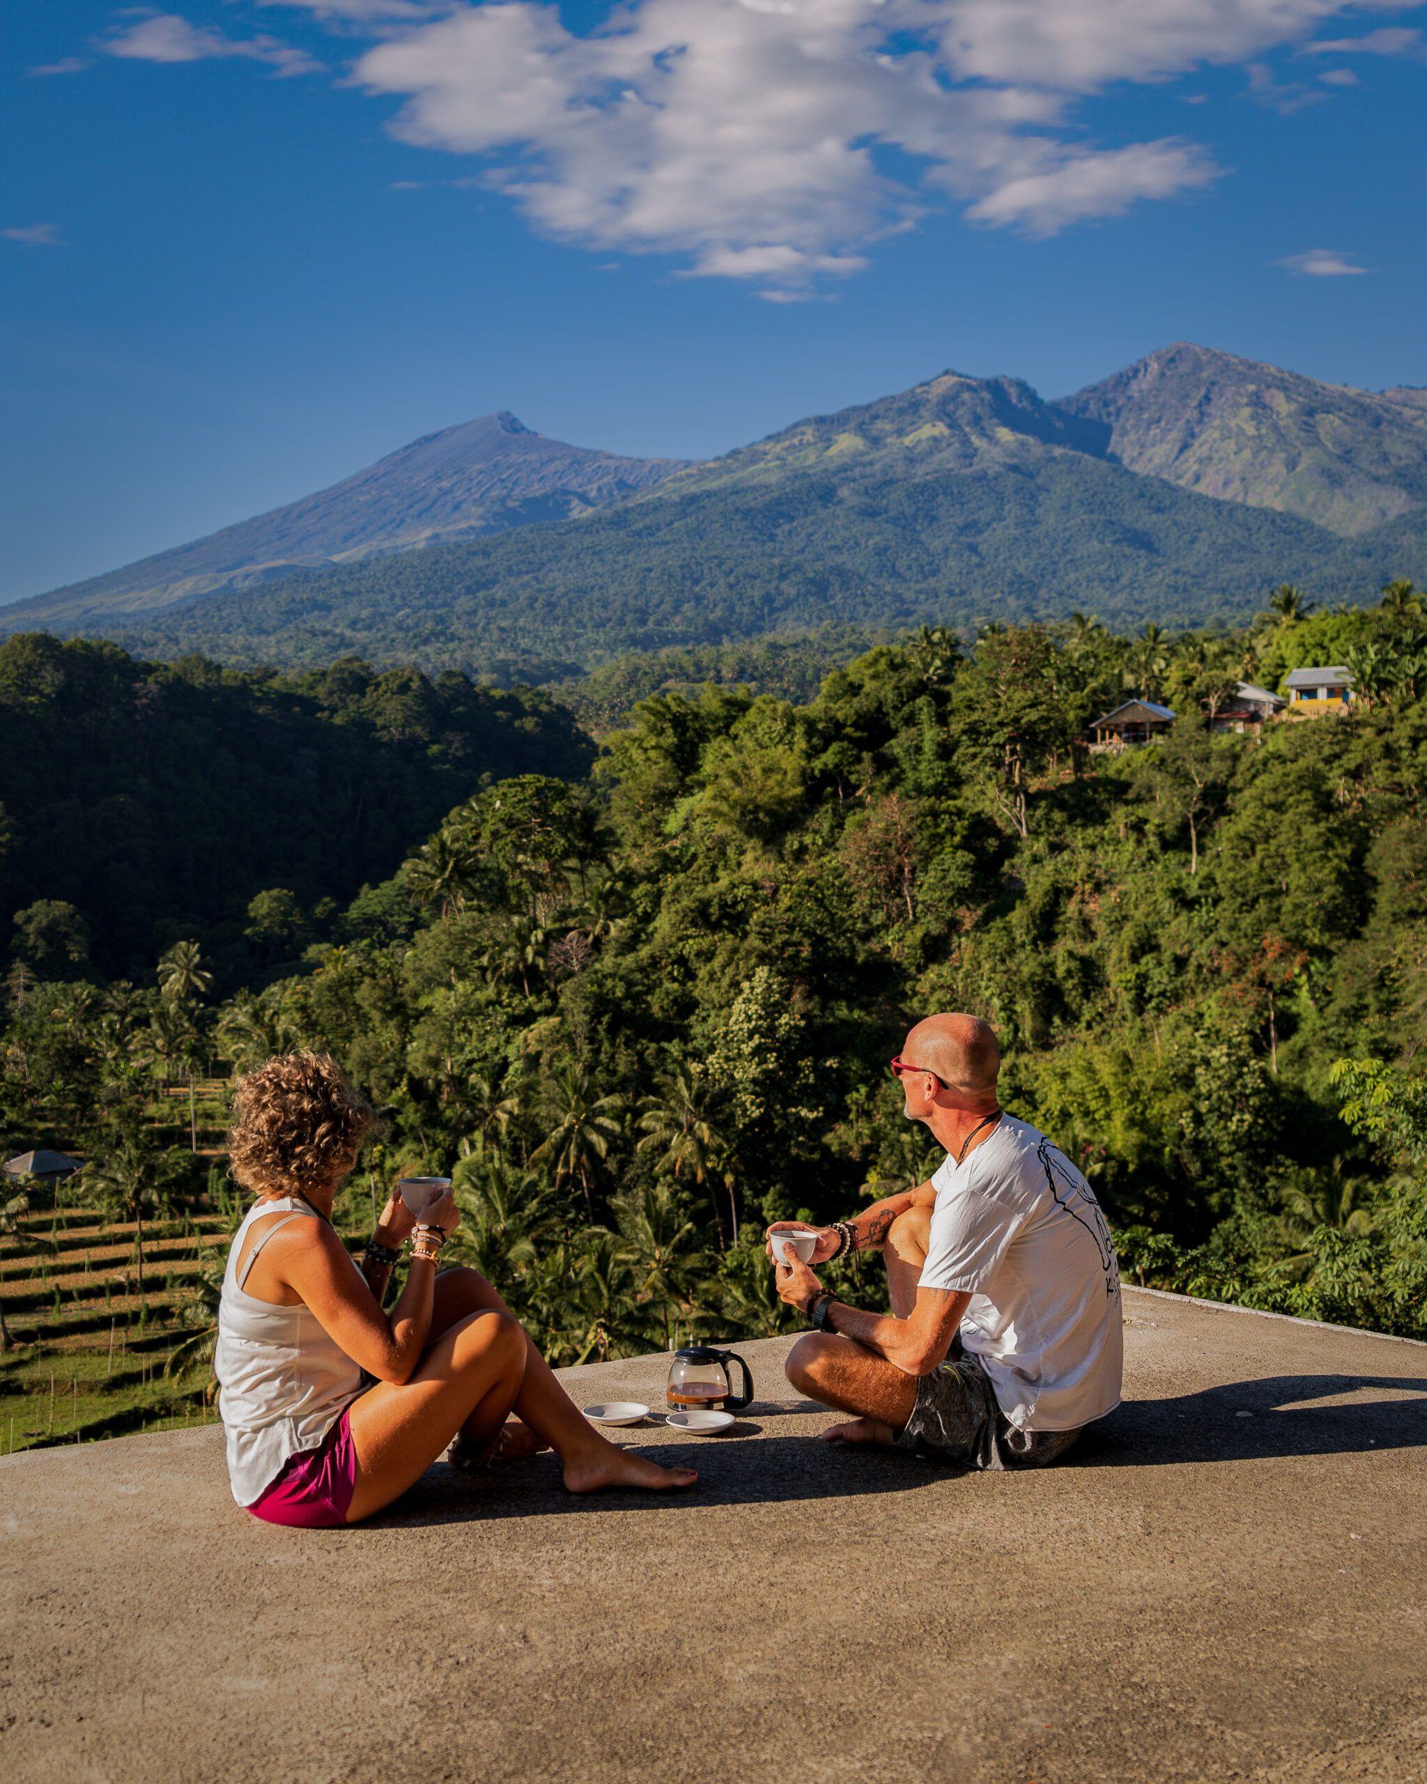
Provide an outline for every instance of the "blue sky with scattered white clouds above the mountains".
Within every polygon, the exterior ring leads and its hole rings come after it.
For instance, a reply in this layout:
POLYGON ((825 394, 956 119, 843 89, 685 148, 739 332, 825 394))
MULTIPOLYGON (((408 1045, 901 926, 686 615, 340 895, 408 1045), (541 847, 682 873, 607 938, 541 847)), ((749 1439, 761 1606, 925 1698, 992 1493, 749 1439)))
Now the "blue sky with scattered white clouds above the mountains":
POLYGON ((494 409, 705 457, 1193 339, 1427 384, 1427 7, 12 7, 0 599, 494 409), (1361 269, 1361 271, 1359 271, 1361 269))

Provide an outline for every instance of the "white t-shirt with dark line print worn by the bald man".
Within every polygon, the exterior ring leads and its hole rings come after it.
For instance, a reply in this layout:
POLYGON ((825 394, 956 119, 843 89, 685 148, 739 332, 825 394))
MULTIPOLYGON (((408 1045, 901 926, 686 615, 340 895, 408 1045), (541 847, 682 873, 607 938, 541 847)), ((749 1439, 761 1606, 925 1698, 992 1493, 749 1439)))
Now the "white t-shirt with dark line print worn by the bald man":
POLYGON ((1090 1185, 1043 1133, 1002 1115, 931 1179, 922 1288, 970 1290, 961 1345, 1020 1431, 1074 1431, 1120 1404, 1120 1270, 1090 1185))

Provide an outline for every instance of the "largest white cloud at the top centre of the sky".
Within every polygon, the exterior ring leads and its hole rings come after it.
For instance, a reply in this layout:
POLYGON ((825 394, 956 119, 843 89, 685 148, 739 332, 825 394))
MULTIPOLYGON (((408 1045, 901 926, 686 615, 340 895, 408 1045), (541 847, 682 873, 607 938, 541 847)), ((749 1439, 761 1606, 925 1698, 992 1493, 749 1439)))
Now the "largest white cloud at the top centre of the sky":
POLYGON ((1045 235, 1215 177, 1188 143, 1068 137, 1035 80, 958 80, 983 27, 969 0, 631 0, 578 36, 507 0, 389 36, 353 78, 403 98, 403 143, 498 157, 487 184, 537 228, 778 291, 862 269, 928 191, 1045 235))

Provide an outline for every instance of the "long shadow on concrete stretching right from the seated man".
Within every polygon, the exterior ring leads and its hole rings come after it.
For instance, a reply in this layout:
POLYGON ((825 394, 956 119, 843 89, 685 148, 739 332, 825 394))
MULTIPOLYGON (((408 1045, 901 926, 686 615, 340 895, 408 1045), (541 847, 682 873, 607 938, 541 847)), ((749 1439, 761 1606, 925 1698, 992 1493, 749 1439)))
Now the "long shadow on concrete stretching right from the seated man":
POLYGON ((1145 1468, 1422 1447, 1427 1447, 1427 1381, 1266 1375, 1174 1400, 1127 1400, 1085 1433, 1063 1466, 1145 1468), (1402 1399, 1365 1399, 1379 1390, 1402 1399), (1345 1400, 1347 1395, 1354 1399, 1345 1400), (1313 1404, 1322 1400, 1340 1404, 1313 1404))

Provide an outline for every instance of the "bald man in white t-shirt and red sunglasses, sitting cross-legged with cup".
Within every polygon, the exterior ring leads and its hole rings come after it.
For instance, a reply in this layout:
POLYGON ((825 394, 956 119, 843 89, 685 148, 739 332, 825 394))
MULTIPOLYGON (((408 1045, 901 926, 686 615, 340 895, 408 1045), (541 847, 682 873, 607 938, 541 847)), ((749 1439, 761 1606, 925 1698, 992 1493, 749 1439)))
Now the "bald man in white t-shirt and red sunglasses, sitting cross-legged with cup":
MULTIPOLYGON (((788 1381, 851 1424, 967 1468, 1038 1468, 1120 1404, 1120 1276, 1085 1177, 995 1095, 988 1022, 933 1015, 892 1061, 906 1117, 947 1149, 929 1183, 819 1229, 813 1265, 879 1247, 892 1313, 863 1313, 788 1251, 778 1293, 817 1327, 788 1381)), ((774 1222, 772 1236, 779 1226, 774 1222)))

